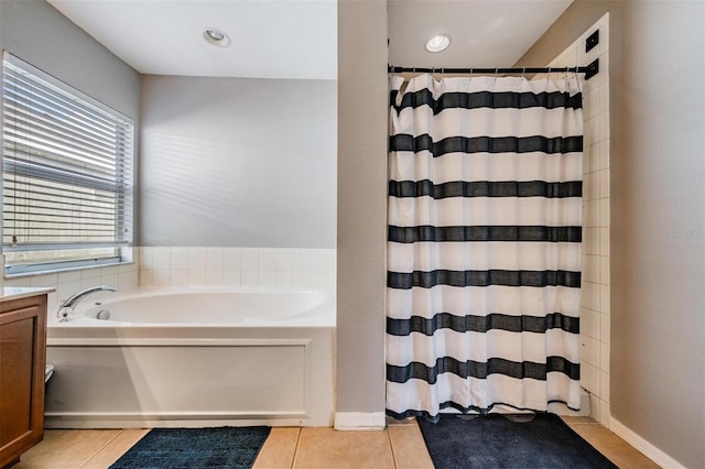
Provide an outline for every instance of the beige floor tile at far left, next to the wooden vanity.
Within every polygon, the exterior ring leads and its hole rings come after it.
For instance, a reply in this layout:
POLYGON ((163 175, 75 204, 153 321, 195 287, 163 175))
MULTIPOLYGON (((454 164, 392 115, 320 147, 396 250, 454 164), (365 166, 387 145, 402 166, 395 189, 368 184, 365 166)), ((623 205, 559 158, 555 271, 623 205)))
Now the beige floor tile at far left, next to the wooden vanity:
POLYGON ((20 462, 12 468, 76 469, 121 432, 121 429, 45 430, 44 440, 23 454, 20 462))

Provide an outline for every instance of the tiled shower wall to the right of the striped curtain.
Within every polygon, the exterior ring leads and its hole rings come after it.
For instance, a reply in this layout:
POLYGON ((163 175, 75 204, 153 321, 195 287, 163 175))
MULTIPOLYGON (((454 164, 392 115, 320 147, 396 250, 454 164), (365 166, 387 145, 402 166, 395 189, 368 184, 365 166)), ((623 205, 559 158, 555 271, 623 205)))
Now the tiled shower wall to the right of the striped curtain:
POLYGON ((550 66, 587 65, 599 74, 584 83, 583 298, 581 384, 590 393, 592 416, 609 428, 609 15, 603 17, 550 66), (599 29, 599 44, 585 40, 599 29))

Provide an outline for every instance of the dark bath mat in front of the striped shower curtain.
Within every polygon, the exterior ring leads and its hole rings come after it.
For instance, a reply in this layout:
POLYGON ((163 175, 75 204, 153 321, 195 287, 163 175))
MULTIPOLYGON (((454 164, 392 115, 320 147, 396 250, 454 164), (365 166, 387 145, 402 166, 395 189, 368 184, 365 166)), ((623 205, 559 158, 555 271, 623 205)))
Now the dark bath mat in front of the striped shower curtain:
POLYGON ((442 415, 419 426, 436 469, 617 468, 554 414, 531 422, 442 415))

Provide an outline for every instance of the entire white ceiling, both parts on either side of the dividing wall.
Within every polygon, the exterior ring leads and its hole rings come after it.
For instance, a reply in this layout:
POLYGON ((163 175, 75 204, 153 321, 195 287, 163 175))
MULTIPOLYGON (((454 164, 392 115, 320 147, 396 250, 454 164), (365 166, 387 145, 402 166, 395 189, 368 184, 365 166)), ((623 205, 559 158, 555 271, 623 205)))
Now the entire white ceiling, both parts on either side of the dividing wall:
MULTIPOLYGON (((336 0, 47 0, 141 74, 336 79, 336 0), (208 44, 208 28, 227 47, 208 44)), ((370 0, 340 0, 370 1, 370 0)), ((389 62, 512 66, 573 0, 389 0, 389 62), (451 47, 424 51, 451 35, 451 47)))

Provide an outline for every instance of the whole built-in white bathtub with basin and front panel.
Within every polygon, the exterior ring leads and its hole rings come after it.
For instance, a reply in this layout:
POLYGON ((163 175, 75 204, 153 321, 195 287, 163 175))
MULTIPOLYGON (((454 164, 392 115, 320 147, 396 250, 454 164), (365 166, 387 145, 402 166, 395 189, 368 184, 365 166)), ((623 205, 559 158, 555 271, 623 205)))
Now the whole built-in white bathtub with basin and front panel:
POLYGON ((139 288, 55 313, 47 428, 333 424, 332 295, 139 288))

